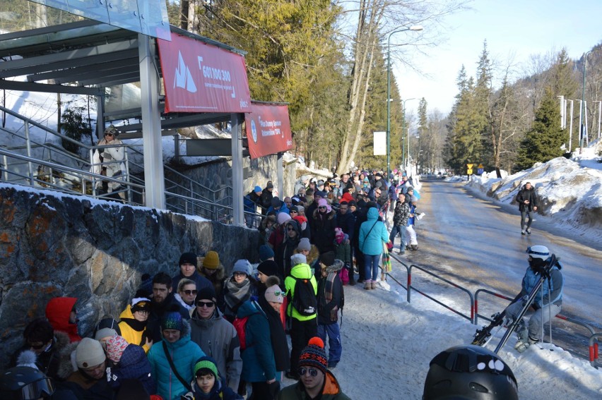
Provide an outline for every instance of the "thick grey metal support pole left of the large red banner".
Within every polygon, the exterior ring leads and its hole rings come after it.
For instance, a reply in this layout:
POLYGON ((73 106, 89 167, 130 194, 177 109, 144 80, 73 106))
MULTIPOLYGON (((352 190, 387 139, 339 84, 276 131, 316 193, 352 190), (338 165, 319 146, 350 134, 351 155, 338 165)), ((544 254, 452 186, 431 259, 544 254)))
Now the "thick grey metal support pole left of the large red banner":
POLYGON ((142 143, 146 207, 165 210, 165 175, 159 111, 159 75, 151 37, 138 34, 138 63, 142 99, 142 143))

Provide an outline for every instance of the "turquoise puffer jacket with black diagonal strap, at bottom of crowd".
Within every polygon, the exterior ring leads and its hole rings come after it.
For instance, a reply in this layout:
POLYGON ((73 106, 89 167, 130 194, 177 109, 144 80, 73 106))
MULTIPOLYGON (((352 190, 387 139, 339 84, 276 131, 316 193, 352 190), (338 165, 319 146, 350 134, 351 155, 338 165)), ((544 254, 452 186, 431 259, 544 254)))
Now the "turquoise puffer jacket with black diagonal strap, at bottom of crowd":
POLYGON ((163 343, 167 345, 167 351, 170 353, 173 364, 184 382, 190 382, 194 376, 194 363, 199 358, 205 356, 198 344, 190 340, 190 325, 188 321, 184 322, 182 337, 175 343, 167 341, 158 341, 153 344, 148 351, 148 361, 151 363, 151 373, 157 383, 156 394, 163 397, 164 400, 179 400, 182 394, 186 394, 188 389, 175 376, 170 362, 167 360, 163 343))

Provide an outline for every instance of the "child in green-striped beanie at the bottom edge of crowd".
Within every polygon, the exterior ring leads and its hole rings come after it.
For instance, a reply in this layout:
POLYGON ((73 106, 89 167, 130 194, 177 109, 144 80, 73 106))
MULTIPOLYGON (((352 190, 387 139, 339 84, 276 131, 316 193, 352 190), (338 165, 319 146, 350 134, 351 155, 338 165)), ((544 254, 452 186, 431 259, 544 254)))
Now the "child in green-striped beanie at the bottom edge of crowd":
POLYGON ((194 365, 194 379, 190 382, 192 388, 182 399, 187 400, 240 400, 236 394, 220 379, 218 367, 213 358, 199 358, 194 365))

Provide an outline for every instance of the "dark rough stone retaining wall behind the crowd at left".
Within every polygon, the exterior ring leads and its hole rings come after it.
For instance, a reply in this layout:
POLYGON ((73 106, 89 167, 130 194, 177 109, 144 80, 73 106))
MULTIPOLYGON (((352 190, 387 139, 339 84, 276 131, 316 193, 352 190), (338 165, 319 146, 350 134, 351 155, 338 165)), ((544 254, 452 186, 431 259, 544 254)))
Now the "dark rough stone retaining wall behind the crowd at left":
POLYGON ((216 250, 228 272, 257 261, 256 231, 182 214, 0 185, 0 370, 49 298, 78 298, 80 332, 118 317, 145 272, 178 272, 179 255, 216 250))

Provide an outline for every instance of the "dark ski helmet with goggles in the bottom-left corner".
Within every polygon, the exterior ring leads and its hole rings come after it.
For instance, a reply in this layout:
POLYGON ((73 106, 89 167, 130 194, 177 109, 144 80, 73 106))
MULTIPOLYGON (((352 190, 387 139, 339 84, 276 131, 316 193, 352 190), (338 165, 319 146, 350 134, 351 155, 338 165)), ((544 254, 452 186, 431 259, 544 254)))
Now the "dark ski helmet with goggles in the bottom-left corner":
POLYGON ((54 384, 32 367, 15 367, 0 375, 0 398, 3 400, 37 400, 49 398, 54 384))

